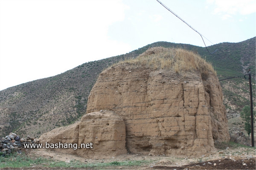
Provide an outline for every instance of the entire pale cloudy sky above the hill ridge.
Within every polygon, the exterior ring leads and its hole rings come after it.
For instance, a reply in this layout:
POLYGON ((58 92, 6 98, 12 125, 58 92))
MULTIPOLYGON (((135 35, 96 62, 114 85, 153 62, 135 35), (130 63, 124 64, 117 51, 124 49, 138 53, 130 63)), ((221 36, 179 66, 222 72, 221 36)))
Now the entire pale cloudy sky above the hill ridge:
MULTIPOLYGON (((207 38, 256 36, 256 0, 160 0, 207 38)), ((0 91, 153 42, 203 47, 157 0, 0 0, 0 91)))

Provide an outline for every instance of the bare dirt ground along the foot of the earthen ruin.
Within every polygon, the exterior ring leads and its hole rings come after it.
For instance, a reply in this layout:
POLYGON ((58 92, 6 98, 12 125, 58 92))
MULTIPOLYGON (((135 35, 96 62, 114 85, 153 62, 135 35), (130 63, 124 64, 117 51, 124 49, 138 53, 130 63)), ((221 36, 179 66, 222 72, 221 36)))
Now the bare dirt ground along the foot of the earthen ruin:
MULTIPOLYGON (((59 161, 81 161, 86 163, 97 162, 112 162, 112 161, 128 161, 128 160, 147 160, 150 164, 138 166, 113 166, 100 167, 100 169, 140 169, 140 170, 255 170, 256 169, 256 153, 253 148, 227 148, 223 152, 216 152, 208 156, 201 156, 197 158, 188 157, 173 157, 173 156, 149 156, 142 154, 125 154, 110 159, 86 159, 68 153, 60 153, 48 149, 27 149, 26 154, 31 157, 44 157, 48 159, 59 161)), ((30 168, 28 168, 30 169, 30 168)), ((46 167, 33 167, 32 169, 47 169, 46 167)), ((59 169, 59 168, 55 168, 59 169)), ((66 168, 71 169, 71 168, 66 168)), ((72 168, 74 169, 74 168, 72 168)), ((77 169, 77 168, 75 168, 77 169)), ((84 169, 84 168, 81 168, 84 169)), ((97 168, 89 168, 97 169, 97 168)))

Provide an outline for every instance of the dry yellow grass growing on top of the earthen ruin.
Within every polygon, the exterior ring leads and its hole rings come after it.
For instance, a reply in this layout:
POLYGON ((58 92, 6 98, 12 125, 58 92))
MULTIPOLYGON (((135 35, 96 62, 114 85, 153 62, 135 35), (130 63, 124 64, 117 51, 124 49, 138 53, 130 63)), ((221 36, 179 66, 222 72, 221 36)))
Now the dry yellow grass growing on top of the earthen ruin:
POLYGON ((200 55, 182 48, 149 48, 135 59, 126 59, 120 63, 142 65, 151 69, 173 69, 176 73, 199 71, 202 78, 207 78, 209 73, 215 76, 216 71, 212 64, 203 59, 200 55))

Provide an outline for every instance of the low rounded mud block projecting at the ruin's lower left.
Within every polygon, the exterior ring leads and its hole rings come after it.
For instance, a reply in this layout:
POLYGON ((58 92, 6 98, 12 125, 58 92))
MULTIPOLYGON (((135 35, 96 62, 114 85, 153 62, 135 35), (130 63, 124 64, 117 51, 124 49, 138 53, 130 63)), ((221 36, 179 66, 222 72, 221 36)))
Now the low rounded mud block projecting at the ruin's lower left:
POLYGON ((44 148, 90 159, 110 158, 127 153, 125 123, 111 111, 88 113, 73 125, 44 133, 39 140, 44 148))

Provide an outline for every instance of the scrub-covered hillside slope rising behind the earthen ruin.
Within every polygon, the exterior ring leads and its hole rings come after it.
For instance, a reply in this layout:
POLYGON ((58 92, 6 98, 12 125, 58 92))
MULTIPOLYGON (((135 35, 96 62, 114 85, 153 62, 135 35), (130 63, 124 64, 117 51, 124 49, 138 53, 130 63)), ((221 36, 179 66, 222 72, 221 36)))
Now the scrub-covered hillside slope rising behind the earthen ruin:
MULTIPOLYGON (((16 132, 22 136, 38 137, 55 127, 70 125, 85 114, 87 99, 98 75, 120 60, 134 58, 148 48, 185 48, 212 62, 219 79, 242 76, 221 81, 228 116, 237 115, 244 105, 249 105, 248 80, 245 71, 252 68, 255 75, 255 37, 238 43, 224 42, 206 48, 170 42, 155 42, 130 53, 87 62, 45 79, 38 79, 0 91, 0 136, 16 132)), ((255 90, 255 76, 253 77, 255 90)), ((255 101, 255 91, 254 101, 255 101)))

